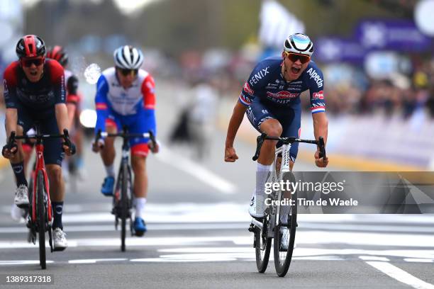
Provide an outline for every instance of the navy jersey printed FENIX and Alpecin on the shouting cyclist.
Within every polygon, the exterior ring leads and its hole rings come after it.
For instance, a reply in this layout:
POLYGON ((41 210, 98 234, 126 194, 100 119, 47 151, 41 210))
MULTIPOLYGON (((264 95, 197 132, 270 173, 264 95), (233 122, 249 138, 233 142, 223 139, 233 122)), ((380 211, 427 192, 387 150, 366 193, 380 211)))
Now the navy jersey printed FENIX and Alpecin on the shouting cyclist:
POLYGON ((282 57, 269 57, 258 63, 244 84, 239 101, 249 106, 255 98, 276 106, 297 106, 300 94, 309 90, 311 112, 325 111, 324 79, 315 62, 309 62, 300 77, 285 81, 282 76, 282 57))

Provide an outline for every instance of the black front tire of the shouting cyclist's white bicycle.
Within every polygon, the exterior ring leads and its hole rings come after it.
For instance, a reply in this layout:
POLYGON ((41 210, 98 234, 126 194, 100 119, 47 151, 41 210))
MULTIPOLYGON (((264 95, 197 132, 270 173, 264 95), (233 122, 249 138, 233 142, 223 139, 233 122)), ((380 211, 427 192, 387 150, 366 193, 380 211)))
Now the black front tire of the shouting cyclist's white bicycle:
MULTIPOLYGON (((286 181, 293 181, 293 175, 291 172, 286 172, 282 176, 282 180, 286 183, 286 181)), ((292 200, 297 200, 297 192, 291 196, 292 200)), ((280 210, 280 206, 278 208, 280 210)), ((289 244, 288 249, 286 251, 280 250, 280 214, 279 218, 277 218, 277 226, 274 227, 274 266, 276 268, 276 273, 279 277, 286 276, 288 273, 289 265, 291 264, 292 253, 294 251, 294 242, 296 235, 296 222, 297 222, 297 202, 294 202, 294 205, 291 205, 291 222, 289 222, 289 244), (282 255, 281 255, 282 253, 282 255)))

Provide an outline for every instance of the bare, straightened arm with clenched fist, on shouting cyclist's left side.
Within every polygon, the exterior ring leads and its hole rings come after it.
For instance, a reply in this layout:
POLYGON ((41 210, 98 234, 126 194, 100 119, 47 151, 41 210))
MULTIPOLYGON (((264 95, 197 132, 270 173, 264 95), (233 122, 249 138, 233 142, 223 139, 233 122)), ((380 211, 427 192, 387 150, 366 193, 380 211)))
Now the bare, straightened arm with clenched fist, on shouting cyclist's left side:
POLYGON ((237 101, 233 108, 232 116, 230 117, 228 134, 226 135, 225 162, 235 162, 235 160, 238 159, 237 154, 235 154, 235 149, 233 148, 233 142, 235 135, 237 135, 238 128, 240 128, 243 122, 245 111, 247 111, 247 106, 237 101))

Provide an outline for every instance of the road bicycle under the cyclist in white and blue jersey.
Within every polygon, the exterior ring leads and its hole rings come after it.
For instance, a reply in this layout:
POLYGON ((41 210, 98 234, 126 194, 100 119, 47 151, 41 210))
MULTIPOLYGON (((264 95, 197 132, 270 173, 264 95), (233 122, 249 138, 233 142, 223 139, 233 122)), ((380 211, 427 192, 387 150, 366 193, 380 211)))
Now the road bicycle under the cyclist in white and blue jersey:
POLYGON ((133 185, 131 176, 130 162, 128 162, 128 154, 130 152, 130 145, 128 140, 134 137, 148 137, 152 145, 155 147, 157 142, 155 140, 155 135, 150 130, 145 133, 128 133, 128 129, 124 126, 123 130, 118 133, 108 133, 101 132, 99 130, 96 133, 95 143, 101 137, 122 137, 122 159, 121 165, 119 166, 118 178, 116 179, 115 193, 113 194, 113 208, 111 213, 115 215, 115 229, 118 229, 119 220, 121 220, 121 251, 126 250, 125 239, 126 239, 126 222, 127 219, 130 222, 130 232, 131 236, 134 235, 134 226, 132 221, 132 208, 133 208, 133 185))

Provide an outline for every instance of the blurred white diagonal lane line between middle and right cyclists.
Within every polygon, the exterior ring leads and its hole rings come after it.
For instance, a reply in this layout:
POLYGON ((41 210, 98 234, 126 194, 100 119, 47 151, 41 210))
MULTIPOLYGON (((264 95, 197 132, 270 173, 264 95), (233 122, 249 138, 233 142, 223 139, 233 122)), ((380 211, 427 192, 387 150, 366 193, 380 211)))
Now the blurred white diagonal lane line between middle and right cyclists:
POLYGON ((167 149, 167 147, 162 147, 160 152, 155 156, 161 162, 165 162, 166 164, 169 164, 169 166, 174 166, 175 168, 194 176, 196 179, 206 183, 208 186, 216 188, 222 193, 231 194, 236 191, 236 186, 233 183, 230 183, 221 176, 214 174, 204 166, 201 166, 201 164, 193 162, 190 159, 183 157, 181 154, 172 152, 167 149))

